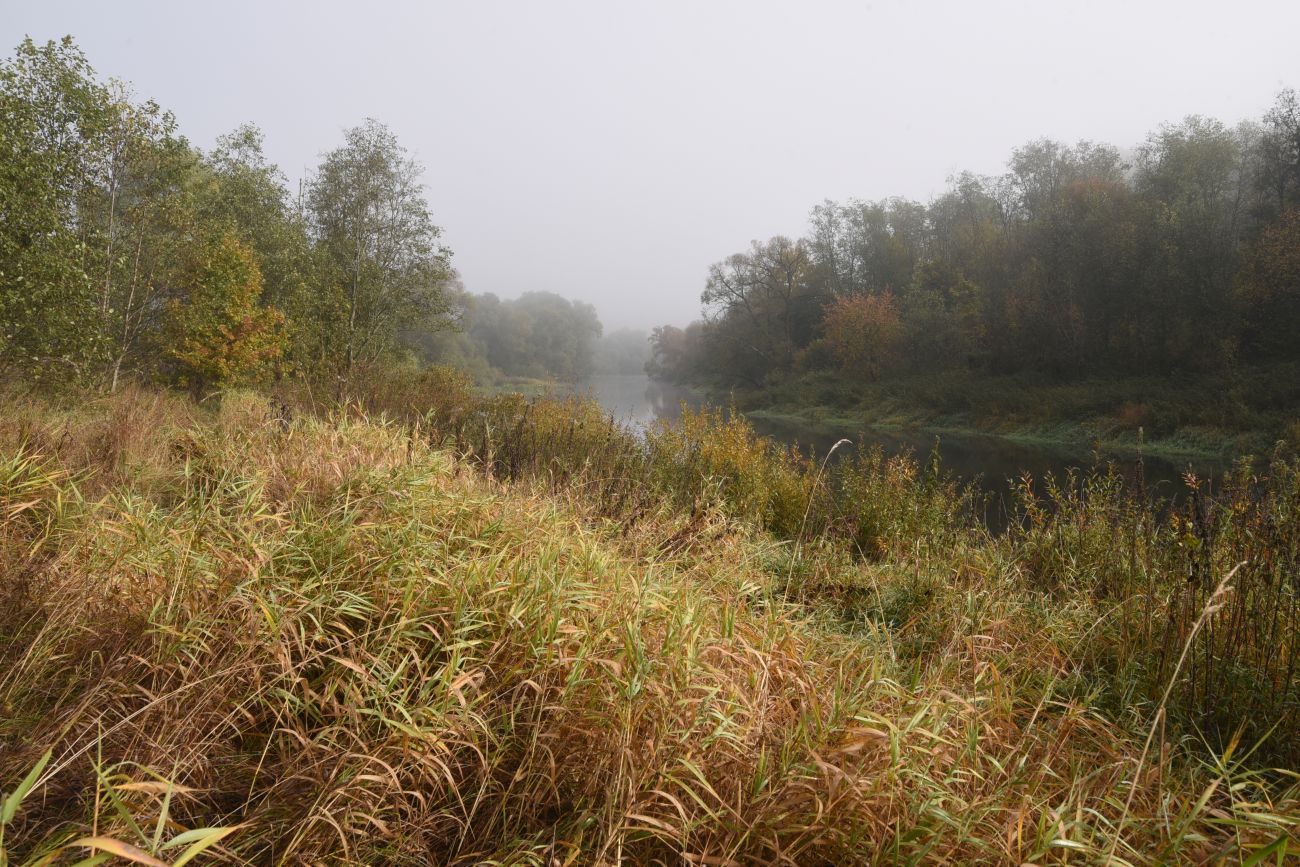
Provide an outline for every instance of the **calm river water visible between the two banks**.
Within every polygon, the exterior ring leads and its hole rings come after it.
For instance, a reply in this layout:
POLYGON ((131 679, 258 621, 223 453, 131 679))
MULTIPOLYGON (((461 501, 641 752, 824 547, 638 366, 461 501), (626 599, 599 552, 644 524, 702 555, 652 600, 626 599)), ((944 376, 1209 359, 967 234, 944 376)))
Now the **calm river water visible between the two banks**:
MULTIPOLYGON (((655 382, 644 374, 595 376, 575 389, 594 398, 606 412, 632 426, 646 426, 658 420, 681 417, 685 403, 698 408, 699 399, 672 385, 655 382)), ((1183 474, 1195 469, 1199 476, 1214 478, 1227 467, 1171 461, 1147 456, 1139 461, 1132 455, 1093 452, 1088 443, 1037 445, 1002 437, 979 434, 944 434, 937 437, 924 432, 881 430, 812 422, 751 417, 754 429, 780 442, 798 443, 811 448, 819 458, 838 439, 848 438, 854 445, 879 446, 888 455, 911 452, 926 459, 937 447, 940 464, 963 482, 974 484, 988 498, 985 519, 1001 524, 1011 502, 1013 481, 1026 473, 1041 480, 1049 474, 1063 478, 1070 469, 1087 469, 1098 461, 1112 463, 1131 484, 1141 485, 1153 497, 1178 500, 1187 493, 1183 474)))

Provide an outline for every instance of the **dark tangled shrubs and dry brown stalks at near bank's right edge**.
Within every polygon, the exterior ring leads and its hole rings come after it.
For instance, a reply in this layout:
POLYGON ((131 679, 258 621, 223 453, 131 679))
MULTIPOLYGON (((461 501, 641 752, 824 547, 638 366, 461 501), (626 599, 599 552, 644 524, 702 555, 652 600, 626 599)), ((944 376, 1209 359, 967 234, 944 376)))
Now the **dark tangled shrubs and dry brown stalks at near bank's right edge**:
POLYGON ((1300 753, 1300 473, 1282 458, 1243 465, 1216 497, 1193 480, 1183 503, 1152 504, 1113 472, 1020 487, 1024 521, 994 543, 1017 581, 1088 598, 1098 619, 1072 654, 1098 701, 1143 712, 1174 680, 1169 715, 1214 749, 1235 737, 1265 763, 1300 753), (1219 578, 1231 593, 1196 632, 1219 578))

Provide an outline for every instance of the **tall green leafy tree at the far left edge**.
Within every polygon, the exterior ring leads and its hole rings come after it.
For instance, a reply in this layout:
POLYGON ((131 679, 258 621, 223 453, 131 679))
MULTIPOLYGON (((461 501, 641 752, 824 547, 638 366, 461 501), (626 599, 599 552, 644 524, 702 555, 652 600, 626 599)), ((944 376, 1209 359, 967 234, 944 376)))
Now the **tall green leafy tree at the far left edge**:
POLYGON ((192 237, 176 121, 101 84, 65 39, 0 65, 0 357, 114 387, 148 348, 192 237))

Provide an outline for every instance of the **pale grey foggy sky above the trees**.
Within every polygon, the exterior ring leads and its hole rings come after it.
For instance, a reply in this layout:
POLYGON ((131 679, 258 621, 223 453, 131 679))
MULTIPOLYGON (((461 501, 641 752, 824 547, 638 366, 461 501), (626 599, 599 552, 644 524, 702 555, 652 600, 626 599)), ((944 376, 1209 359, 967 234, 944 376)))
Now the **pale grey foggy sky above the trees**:
POLYGON ((1127 147, 1300 86, 1300 1, 0 0, 199 147, 246 121, 296 182, 346 126, 426 166, 474 292, 684 324, 708 264, 822 199, 927 200, 1048 135, 1127 147))

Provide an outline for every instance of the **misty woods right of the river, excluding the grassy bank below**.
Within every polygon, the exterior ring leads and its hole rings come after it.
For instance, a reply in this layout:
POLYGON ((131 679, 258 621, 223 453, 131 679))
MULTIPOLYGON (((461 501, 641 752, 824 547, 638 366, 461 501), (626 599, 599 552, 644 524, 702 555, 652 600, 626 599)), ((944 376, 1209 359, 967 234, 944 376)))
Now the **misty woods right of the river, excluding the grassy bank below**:
POLYGON ((800 239, 710 268, 703 317, 653 334, 649 370, 760 387, 874 378, 1216 372, 1300 359, 1300 100, 1188 117, 1130 159, 1048 139, 922 204, 826 201, 800 239))

